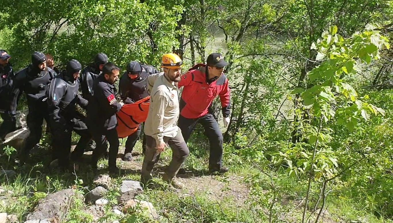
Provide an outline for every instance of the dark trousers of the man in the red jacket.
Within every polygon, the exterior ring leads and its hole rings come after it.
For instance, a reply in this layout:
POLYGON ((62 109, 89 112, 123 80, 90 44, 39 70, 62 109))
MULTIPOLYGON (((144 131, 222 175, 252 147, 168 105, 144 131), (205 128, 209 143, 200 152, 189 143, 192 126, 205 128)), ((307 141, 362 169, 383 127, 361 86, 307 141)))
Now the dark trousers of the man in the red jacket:
POLYGON ((184 141, 187 143, 197 123, 202 124, 210 143, 209 169, 219 170, 222 166, 222 132, 217 120, 212 114, 206 114, 198 119, 187 119, 180 115, 179 128, 182 130, 184 141))

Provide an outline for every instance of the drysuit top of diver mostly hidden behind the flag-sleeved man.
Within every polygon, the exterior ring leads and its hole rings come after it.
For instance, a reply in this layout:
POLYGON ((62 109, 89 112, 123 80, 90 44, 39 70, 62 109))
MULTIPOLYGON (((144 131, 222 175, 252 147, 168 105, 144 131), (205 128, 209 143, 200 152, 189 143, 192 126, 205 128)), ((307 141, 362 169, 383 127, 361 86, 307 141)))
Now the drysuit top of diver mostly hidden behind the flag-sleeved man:
POLYGON ((83 68, 83 70, 81 71, 80 82, 81 82, 82 96, 84 99, 89 100, 90 97, 92 96, 92 88, 93 88, 94 80, 101 73, 102 71, 99 71, 93 65, 87 66, 83 68))

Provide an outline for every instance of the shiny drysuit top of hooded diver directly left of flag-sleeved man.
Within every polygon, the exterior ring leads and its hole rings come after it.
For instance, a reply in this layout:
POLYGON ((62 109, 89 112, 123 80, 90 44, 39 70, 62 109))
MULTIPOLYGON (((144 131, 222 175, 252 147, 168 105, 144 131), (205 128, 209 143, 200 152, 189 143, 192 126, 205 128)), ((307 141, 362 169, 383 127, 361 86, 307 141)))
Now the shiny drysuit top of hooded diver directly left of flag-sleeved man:
POLYGON ((88 101, 83 99, 78 93, 79 80, 74 80, 62 71, 59 76, 51 80, 46 91, 48 113, 53 125, 64 126, 72 122, 76 129, 87 129, 84 124, 84 116, 77 111, 76 105, 86 108, 88 101))

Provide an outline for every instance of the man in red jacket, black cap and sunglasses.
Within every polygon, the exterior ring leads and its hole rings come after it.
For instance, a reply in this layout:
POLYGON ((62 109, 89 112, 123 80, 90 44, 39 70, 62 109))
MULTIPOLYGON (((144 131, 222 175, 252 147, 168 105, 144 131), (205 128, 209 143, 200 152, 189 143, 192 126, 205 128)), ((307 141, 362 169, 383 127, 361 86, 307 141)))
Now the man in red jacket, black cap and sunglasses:
POLYGON ((211 103, 220 97, 224 125, 230 122, 230 88, 223 74, 228 63, 220 53, 208 56, 207 64, 196 64, 185 73, 178 87, 184 86, 180 99, 179 127, 185 142, 188 141, 196 123, 204 127, 210 143, 209 172, 228 172, 222 166, 222 132, 211 112, 211 103))

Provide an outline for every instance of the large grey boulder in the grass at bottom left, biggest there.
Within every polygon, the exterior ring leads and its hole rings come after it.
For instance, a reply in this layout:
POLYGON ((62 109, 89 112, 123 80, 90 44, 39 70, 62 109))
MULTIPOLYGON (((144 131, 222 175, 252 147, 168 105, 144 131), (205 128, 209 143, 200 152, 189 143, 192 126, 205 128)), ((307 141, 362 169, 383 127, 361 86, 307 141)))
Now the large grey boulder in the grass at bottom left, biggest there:
MULTIPOLYGON (((50 194, 38 202, 34 212, 28 214, 26 219, 61 219, 66 214, 69 205, 72 205, 74 197, 75 190, 71 188, 50 194)), ((80 199, 84 199, 84 197, 82 196, 80 199)))

